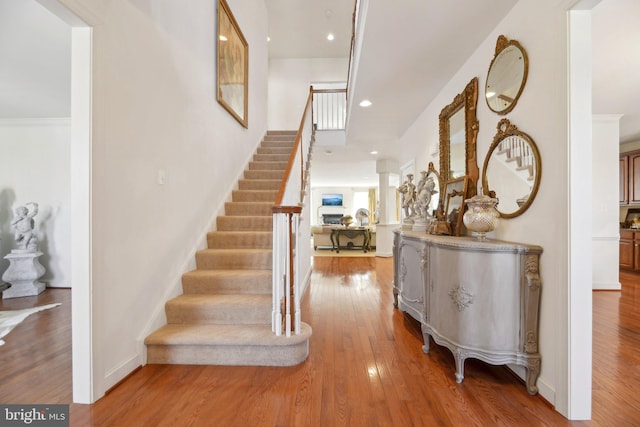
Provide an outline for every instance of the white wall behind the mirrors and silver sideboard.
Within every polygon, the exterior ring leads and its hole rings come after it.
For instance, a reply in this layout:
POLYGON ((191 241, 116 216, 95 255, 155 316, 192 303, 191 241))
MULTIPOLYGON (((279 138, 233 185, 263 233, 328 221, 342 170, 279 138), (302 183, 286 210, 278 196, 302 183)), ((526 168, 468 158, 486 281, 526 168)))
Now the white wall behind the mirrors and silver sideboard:
MULTIPOLYGON (((568 264, 568 141, 567 141, 567 15, 566 2, 521 0, 465 65, 452 76, 435 100, 402 136, 399 146, 407 147, 400 163, 415 158, 416 169, 430 161, 439 164, 431 153, 438 148, 438 116, 473 78, 479 78, 477 116, 480 129, 477 139, 478 166, 503 116, 491 112, 483 98, 486 72, 493 58, 500 34, 518 40, 527 50, 529 75, 515 109, 507 118, 536 142, 542 158, 542 177, 533 204, 521 216, 502 219, 495 237, 503 240, 536 244, 543 247, 541 257, 542 299, 540 306, 539 349, 542 371, 538 380, 540 393, 556 403, 556 389, 563 369, 563 354, 557 333, 566 307, 560 306, 567 292, 568 264), (542 30, 544 29, 544 30, 542 30), (425 141, 426 136, 426 141, 425 141), (418 143, 419 142, 419 143, 418 143)), ((479 180, 480 182, 481 180, 479 180)), ((590 286, 590 283, 587 284, 590 286)))

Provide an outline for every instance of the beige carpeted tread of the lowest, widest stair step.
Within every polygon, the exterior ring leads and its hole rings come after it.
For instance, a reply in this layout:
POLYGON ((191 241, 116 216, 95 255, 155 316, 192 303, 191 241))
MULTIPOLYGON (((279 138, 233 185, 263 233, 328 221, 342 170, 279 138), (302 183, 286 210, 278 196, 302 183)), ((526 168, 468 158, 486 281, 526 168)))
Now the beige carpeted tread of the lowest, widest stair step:
POLYGON ((309 339, 311 326, 301 322, 300 334, 276 336, 271 324, 169 324, 145 339, 146 345, 289 346, 309 339))

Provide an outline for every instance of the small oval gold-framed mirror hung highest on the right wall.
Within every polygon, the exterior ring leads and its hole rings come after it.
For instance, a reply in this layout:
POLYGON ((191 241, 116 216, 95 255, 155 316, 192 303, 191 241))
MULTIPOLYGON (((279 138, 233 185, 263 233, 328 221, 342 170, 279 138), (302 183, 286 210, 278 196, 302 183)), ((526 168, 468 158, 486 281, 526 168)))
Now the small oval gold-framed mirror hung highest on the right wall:
POLYGON ((516 40, 499 36, 484 91, 489 109, 500 115, 513 110, 527 81, 527 52, 516 40))

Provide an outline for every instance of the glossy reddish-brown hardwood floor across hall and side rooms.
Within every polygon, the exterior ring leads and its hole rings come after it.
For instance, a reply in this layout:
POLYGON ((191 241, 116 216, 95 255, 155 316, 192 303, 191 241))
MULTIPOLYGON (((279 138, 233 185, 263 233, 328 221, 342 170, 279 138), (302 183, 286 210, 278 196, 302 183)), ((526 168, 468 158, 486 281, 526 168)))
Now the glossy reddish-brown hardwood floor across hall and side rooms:
MULTIPOLYGON (((422 353, 417 322, 393 308, 389 258, 316 258, 303 320, 309 358, 287 368, 147 365, 72 426, 632 426, 640 425, 640 279, 594 292, 593 420, 569 422, 503 367, 422 353)), ((1 403, 71 402, 70 291, 0 302, 54 301, 0 347, 1 403), (44 340, 44 342, 43 342, 44 340)), ((543 360, 544 363, 544 360, 543 360)))

